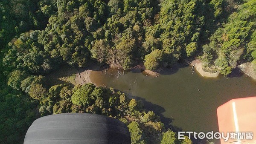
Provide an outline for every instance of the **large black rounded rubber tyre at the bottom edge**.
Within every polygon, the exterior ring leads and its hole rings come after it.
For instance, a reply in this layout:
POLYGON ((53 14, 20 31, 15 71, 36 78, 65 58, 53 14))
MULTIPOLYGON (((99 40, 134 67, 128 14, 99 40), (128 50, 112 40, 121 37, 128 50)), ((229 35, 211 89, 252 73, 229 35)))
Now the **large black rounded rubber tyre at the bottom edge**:
POLYGON ((24 144, 131 144, 127 126, 103 115, 65 113, 35 120, 24 144))

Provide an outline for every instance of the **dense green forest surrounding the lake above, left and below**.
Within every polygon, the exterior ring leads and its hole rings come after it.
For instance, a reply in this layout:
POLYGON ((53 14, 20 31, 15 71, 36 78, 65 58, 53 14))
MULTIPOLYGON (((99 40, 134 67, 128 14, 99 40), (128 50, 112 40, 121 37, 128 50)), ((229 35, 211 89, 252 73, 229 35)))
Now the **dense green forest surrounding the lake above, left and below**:
POLYGON ((64 65, 155 70, 193 58, 228 75, 256 65, 255 14, 256 0, 1 0, 0 143, 22 143, 36 118, 64 112, 118 118, 133 143, 192 143, 122 92, 45 76, 64 65))

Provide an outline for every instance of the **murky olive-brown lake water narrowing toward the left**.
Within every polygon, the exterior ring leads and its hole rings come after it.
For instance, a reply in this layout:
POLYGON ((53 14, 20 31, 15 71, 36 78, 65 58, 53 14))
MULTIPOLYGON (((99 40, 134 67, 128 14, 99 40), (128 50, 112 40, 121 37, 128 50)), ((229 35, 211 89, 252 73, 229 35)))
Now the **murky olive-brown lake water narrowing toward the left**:
POLYGON ((117 73, 117 69, 93 71, 90 78, 98 86, 113 87, 142 99, 146 108, 173 118, 171 124, 184 131, 218 131, 219 106, 233 98, 256 96, 256 81, 238 71, 231 77, 203 78, 197 72, 192 74, 190 66, 177 64, 155 78, 140 69, 124 72, 119 78, 117 73))

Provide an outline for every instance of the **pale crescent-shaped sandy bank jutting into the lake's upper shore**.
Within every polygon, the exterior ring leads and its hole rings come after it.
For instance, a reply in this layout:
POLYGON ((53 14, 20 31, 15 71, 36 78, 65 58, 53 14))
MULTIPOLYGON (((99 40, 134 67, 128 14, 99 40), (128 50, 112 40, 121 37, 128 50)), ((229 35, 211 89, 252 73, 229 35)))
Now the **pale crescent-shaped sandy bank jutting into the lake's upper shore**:
POLYGON ((200 60, 193 60, 191 63, 190 63, 190 66, 193 66, 194 65, 194 69, 196 69, 196 71, 202 75, 203 77, 208 77, 208 78, 216 78, 218 77, 219 75, 219 71, 215 72, 215 73, 210 73, 210 72, 205 72, 203 70, 203 66, 202 66, 202 63, 200 60))

